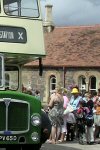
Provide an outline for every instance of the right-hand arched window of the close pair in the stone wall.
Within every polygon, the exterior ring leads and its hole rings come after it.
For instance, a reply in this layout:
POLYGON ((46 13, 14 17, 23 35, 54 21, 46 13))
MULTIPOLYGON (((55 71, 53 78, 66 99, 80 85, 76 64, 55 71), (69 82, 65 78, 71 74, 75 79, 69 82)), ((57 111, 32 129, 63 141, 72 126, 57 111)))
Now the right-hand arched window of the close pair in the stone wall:
POLYGON ((89 78, 89 91, 96 91, 96 77, 91 76, 89 78))

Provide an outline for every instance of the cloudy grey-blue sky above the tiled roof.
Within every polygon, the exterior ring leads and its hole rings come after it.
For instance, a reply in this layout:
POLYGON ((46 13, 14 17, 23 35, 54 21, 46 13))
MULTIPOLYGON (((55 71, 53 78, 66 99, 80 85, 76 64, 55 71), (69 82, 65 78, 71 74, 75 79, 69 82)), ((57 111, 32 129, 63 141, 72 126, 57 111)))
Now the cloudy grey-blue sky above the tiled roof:
POLYGON ((43 18, 48 3, 56 26, 100 24, 100 0, 41 0, 43 18))

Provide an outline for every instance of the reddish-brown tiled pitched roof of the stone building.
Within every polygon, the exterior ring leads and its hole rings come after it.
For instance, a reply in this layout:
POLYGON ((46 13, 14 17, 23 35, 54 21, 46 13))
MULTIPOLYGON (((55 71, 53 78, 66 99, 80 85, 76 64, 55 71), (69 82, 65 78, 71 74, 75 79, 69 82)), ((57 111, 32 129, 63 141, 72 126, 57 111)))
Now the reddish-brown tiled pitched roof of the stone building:
MULTIPOLYGON (((99 67, 100 25, 56 27, 45 33, 44 66, 99 67)), ((38 65, 37 61, 28 66, 38 65)))

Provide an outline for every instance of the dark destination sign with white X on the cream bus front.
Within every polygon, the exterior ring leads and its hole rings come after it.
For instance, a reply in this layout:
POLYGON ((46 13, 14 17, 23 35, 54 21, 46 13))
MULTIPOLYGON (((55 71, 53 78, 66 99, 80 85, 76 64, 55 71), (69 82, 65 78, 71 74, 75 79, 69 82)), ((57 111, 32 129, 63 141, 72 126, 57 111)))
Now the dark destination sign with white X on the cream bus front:
POLYGON ((0 42, 26 43, 26 30, 19 27, 0 26, 0 42))

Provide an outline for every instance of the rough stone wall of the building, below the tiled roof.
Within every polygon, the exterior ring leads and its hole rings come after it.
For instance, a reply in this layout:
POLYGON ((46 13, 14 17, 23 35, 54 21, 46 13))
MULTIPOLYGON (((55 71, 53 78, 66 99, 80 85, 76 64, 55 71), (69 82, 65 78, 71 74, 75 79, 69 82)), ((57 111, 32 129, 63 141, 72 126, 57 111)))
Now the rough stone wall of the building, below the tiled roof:
MULTIPOLYGON (((55 75, 57 79, 57 84, 65 86, 70 89, 71 85, 78 85, 78 77, 84 75, 86 81, 89 82, 89 76, 94 75, 97 79, 97 89, 100 87, 100 69, 88 69, 88 68, 67 68, 64 71, 62 68, 48 68, 44 69, 42 77, 39 76, 38 69, 23 69, 23 84, 28 87, 31 85, 32 89, 40 90, 41 98, 44 103, 48 102, 49 99, 49 78, 51 75, 55 75)), ((68 93, 70 97, 70 91, 68 93)))

